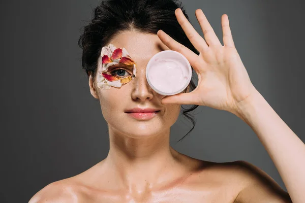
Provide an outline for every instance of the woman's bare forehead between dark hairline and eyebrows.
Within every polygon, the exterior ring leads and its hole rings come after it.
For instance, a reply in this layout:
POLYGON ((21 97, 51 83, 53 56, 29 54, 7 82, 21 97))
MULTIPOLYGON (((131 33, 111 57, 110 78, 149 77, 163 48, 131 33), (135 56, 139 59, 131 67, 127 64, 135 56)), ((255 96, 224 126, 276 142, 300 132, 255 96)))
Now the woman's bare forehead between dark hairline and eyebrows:
POLYGON ((109 44, 116 48, 124 47, 135 62, 148 61, 156 53, 170 50, 157 35, 138 31, 122 31, 109 44))

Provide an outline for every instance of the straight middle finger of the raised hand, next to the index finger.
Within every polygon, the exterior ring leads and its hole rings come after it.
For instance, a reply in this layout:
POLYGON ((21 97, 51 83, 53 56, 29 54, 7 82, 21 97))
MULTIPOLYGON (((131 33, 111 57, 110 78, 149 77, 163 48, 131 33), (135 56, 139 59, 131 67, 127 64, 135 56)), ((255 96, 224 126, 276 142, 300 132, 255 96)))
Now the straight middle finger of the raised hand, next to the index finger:
POLYGON ((178 20, 178 23, 186 33, 188 39, 193 44, 193 46, 200 52, 204 49, 208 48, 204 39, 199 35, 199 33, 195 30, 192 24, 188 21, 184 13, 181 9, 175 10, 175 15, 178 20))

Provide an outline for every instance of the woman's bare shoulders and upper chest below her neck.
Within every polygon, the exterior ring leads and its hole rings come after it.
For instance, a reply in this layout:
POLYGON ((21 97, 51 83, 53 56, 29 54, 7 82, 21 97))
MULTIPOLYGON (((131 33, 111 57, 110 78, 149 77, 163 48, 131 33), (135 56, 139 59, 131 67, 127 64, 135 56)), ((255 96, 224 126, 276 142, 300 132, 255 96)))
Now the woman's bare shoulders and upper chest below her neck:
MULTIPOLYGON (((194 159, 171 149, 175 159, 158 184, 145 191, 132 191, 117 184, 107 158, 87 171, 47 185, 32 202, 239 202, 239 192, 252 182, 259 202, 290 202, 289 195, 267 174, 249 170, 242 161, 215 163, 194 159), (169 171, 169 172, 168 172, 169 171), (253 172, 260 173, 253 180, 253 172), (102 175, 101 175, 102 174, 102 175)), ((144 180, 142 180, 144 181, 144 180)), ((149 185, 149 183, 147 183, 149 185)), ((255 202, 255 201, 248 201, 255 202)), ((258 202, 258 201, 257 201, 258 202)))

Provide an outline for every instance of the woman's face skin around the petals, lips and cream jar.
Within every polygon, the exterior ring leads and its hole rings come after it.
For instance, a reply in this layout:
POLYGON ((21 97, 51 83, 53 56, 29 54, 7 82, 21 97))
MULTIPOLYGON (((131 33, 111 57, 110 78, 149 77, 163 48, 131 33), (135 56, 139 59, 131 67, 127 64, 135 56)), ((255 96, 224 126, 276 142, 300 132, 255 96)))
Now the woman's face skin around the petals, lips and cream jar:
MULTIPOLYGON (((150 88, 145 72, 149 59, 169 48, 157 35, 137 31, 120 32, 109 44, 113 44, 116 48, 125 48, 136 63, 136 77, 119 88, 101 89, 97 87, 97 81, 90 76, 90 92, 100 100, 102 113, 109 128, 130 138, 154 136, 168 130, 179 116, 180 105, 162 105, 161 99, 164 96, 150 88), (160 111, 153 118, 143 119, 127 113, 134 108, 160 111)), ((98 66, 101 63, 100 57, 98 66)))

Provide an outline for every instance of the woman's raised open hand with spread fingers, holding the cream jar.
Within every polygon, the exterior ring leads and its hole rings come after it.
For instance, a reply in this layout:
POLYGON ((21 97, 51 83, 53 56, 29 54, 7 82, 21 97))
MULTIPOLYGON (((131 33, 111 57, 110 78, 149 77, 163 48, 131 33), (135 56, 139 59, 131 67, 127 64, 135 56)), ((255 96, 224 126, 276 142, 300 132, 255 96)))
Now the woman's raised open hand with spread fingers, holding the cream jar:
POLYGON ((256 93, 256 89, 234 46, 228 16, 224 14, 221 19, 223 46, 202 10, 196 10, 196 17, 205 40, 180 9, 175 11, 175 15, 190 42, 200 54, 195 54, 162 30, 158 31, 158 37, 167 47, 183 54, 190 61, 198 75, 198 85, 192 92, 166 96, 162 99, 162 103, 194 104, 234 113, 238 103, 256 93))

